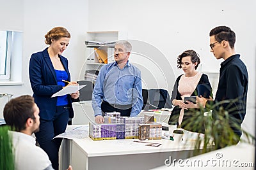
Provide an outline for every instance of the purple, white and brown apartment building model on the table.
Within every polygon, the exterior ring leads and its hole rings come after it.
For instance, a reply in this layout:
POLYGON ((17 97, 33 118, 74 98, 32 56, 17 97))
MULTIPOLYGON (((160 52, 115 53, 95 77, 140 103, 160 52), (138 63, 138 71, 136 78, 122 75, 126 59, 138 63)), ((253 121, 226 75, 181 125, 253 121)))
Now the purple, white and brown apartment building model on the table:
POLYGON ((89 136, 93 140, 161 139, 162 125, 150 120, 154 121, 154 117, 120 117, 119 112, 106 113, 105 124, 89 123, 89 136))

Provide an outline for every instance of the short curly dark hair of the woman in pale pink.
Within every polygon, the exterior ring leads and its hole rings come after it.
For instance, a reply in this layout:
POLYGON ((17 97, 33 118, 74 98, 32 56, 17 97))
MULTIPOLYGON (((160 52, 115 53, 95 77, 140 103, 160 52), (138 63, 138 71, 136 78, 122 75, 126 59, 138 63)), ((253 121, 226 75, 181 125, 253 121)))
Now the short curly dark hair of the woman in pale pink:
POLYGON ((183 57, 188 57, 190 56, 191 57, 191 62, 193 64, 195 64, 195 62, 197 62, 197 65, 195 66, 195 69, 197 69, 198 65, 200 64, 200 58, 199 58, 199 55, 198 53, 196 53, 194 50, 186 50, 185 52, 182 52, 182 54, 180 54, 178 56, 178 59, 177 59, 177 67, 179 69, 181 69, 181 60, 183 57))

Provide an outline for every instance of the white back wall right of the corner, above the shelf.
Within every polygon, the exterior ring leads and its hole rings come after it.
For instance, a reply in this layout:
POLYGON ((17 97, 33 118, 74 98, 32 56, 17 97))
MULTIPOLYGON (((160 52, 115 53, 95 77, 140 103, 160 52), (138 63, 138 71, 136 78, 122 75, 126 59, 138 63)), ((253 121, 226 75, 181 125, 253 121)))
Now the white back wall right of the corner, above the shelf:
MULTIPOLYGON (((173 68, 175 76, 182 73, 177 69, 177 55, 187 49, 199 53, 204 71, 219 71, 223 60, 216 60, 210 53, 209 31, 218 25, 231 27, 237 36, 236 52, 241 53, 250 76, 243 126, 254 134, 256 1, 90 0, 89 6, 90 31, 126 31, 127 39, 151 44, 164 53, 172 65, 170 73, 173 68)), ((141 60, 141 64, 147 63, 141 60)), ((173 81, 169 83, 168 89, 173 81)))

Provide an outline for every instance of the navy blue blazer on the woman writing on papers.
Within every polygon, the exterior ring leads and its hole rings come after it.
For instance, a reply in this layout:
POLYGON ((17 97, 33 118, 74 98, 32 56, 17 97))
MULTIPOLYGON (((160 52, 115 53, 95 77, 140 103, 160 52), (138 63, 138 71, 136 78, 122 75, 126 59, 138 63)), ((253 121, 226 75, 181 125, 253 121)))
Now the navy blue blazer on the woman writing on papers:
MULTIPOLYGON (((52 120, 54 113, 56 112, 57 97, 51 97, 52 94, 62 89, 61 85, 57 84, 56 73, 52 65, 48 48, 45 48, 42 52, 33 53, 29 61, 29 79, 32 90, 34 92, 33 97, 35 103, 40 109, 40 118, 44 120, 52 120)), ((67 71, 68 81, 70 81, 70 73, 68 71, 67 58, 59 55, 61 63, 67 71)), ((74 111, 72 109, 72 101, 70 95, 68 95, 68 105, 70 108, 70 118, 74 117, 74 111)))

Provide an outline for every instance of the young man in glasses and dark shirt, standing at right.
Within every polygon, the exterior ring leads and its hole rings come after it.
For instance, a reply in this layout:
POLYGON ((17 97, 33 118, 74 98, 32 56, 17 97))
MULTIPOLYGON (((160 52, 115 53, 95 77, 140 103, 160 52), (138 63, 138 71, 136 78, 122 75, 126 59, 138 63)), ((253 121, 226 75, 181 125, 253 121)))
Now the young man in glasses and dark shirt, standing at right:
MULTIPOLYGON (((241 137, 241 124, 246 113, 246 98, 248 89, 248 73, 246 66, 236 53, 234 45, 236 42, 236 34, 229 27, 215 27, 210 32, 210 47, 216 59, 224 59, 220 68, 220 79, 214 104, 221 101, 227 103, 217 104, 212 110, 212 118, 218 119, 218 110, 223 106, 225 111, 228 111, 229 122, 235 138, 230 145, 237 144, 241 137), (235 125, 235 124, 236 125, 235 125)), ((198 97, 197 102, 204 105, 207 99, 198 97)), ((225 129, 223 129, 225 131, 225 129)), ((218 144, 218 141, 215 141, 218 144)))

